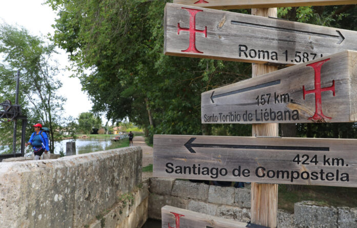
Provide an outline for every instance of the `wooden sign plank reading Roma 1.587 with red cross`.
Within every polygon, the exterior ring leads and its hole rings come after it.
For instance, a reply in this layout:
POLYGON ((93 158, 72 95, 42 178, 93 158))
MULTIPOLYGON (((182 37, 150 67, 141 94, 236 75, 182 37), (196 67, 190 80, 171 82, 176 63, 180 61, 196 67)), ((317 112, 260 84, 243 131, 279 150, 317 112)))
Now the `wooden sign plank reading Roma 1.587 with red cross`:
POLYGON ((357 50, 357 31, 167 3, 167 55, 295 65, 357 50))

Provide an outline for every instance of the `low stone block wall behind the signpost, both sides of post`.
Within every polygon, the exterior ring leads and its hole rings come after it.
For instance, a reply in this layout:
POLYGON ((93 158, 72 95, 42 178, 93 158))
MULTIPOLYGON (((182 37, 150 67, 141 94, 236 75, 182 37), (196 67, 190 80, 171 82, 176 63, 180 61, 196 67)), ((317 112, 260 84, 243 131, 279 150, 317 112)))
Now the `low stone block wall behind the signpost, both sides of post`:
MULTIPOLYGON (((149 218, 161 219, 165 205, 233 219, 250 221, 250 189, 220 187, 203 183, 150 178, 149 218)), ((357 208, 295 203, 294 214, 278 210, 277 227, 357 227, 357 208)))

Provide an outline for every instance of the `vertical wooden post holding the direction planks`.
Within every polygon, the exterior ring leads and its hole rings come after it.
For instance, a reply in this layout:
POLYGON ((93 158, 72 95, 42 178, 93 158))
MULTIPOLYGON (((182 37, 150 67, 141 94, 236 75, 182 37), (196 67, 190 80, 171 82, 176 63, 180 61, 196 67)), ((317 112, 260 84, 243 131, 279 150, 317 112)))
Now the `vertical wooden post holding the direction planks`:
MULTIPOLYGON (((252 15, 277 17, 276 8, 252 9, 252 15)), ((277 70, 275 66, 252 64, 252 77, 277 70)), ((253 124, 253 136, 278 136, 279 125, 253 124)), ((277 184, 251 185, 251 223, 275 228, 277 226, 277 184)))

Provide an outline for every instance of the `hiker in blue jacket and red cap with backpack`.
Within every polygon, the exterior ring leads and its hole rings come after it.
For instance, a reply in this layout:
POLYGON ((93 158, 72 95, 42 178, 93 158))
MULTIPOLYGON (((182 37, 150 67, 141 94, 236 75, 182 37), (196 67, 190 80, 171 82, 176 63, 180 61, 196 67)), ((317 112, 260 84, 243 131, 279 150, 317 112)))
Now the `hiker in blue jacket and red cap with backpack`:
POLYGON ((48 147, 47 134, 42 130, 42 124, 37 123, 33 125, 33 127, 35 128, 35 132, 32 133, 29 142, 25 145, 32 145, 33 153, 35 154, 35 160, 39 160, 41 155, 44 152, 47 154, 47 151, 49 151, 50 148, 48 147))

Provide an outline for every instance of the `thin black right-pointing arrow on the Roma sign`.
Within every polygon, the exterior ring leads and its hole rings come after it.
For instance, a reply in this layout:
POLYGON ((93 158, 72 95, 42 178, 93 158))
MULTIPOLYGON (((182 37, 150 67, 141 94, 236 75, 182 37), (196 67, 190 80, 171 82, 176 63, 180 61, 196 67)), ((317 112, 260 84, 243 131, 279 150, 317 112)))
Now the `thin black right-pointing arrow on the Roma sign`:
POLYGON ((299 34, 305 34, 305 35, 314 35, 314 36, 320 36, 320 37, 334 38, 334 39, 339 40, 337 42, 337 44, 341 44, 345 40, 345 37, 342 35, 342 33, 339 30, 336 30, 337 35, 330 35, 330 34, 324 34, 324 33, 319 33, 319 32, 307 32, 307 31, 301 31, 301 30, 296 30, 296 29, 279 28, 279 27, 270 26, 270 25, 259 25, 259 24, 248 23, 248 22, 231 21, 231 24, 247 26, 247 27, 254 27, 254 28, 270 29, 270 30, 274 30, 274 31, 293 32, 293 33, 299 33, 299 34))

